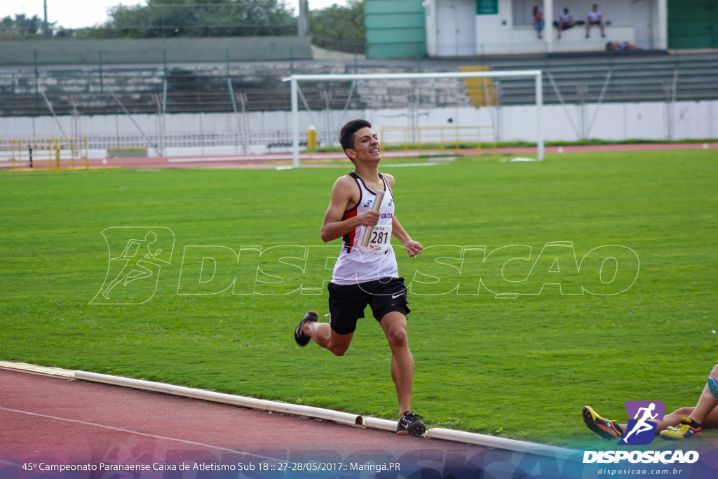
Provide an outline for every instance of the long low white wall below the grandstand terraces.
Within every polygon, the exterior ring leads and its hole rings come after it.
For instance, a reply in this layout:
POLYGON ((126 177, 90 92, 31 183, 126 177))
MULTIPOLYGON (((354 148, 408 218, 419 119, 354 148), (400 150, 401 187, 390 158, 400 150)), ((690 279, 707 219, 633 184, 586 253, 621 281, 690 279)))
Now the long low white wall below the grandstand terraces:
MULTIPOLYGON (((329 131, 327 141, 335 141, 342 123, 352 118, 367 118, 376 130, 382 126, 497 126, 499 141, 536 141, 536 106, 432 108, 414 111, 414 120, 406 109, 372 109, 342 111, 299 112, 300 131, 314 126, 320 132, 329 131), (449 122, 449 118, 451 122, 449 122)), ((159 116, 134 115, 136 124, 147 135, 158 135, 159 116)), ((252 134, 291 131, 292 113, 289 111, 234 113, 167 114, 167 135, 220 134, 239 130, 238 122, 245 122, 252 134)), ((138 129, 125 115, 59 116, 57 121, 68 136, 138 136, 138 129)), ((55 138, 64 136, 52 116, 0 118, 1 138, 55 138)), ((625 139, 707 139, 718 138, 718 101, 678 101, 676 103, 605 103, 584 106, 544 106, 544 139, 546 141, 576 141, 581 138, 605 140, 625 139)), ((326 141, 325 141, 326 142, 326 141)), ((255 142, 256 143, 256 142, 255 142)), ((168 148, 167 154, 234 154, 236 147, 168 148)), ((266 152, 266 147, 254 145, 253 153, 266 152)), ((105 152, 91 152, 103 156, 105 152)), ((157 154, 150 151, 149 154, 157 154)))

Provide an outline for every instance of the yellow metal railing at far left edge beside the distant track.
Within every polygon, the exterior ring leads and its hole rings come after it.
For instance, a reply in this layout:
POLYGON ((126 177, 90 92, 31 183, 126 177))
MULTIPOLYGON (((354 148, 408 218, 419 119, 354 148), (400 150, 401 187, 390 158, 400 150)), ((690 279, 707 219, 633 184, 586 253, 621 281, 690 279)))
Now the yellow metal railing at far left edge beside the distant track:
POLYGON ((25 167, 75 169, 75 162, 90 168, 86 138, 0 139, 0 159, 11 161, 13 170, 25 167))

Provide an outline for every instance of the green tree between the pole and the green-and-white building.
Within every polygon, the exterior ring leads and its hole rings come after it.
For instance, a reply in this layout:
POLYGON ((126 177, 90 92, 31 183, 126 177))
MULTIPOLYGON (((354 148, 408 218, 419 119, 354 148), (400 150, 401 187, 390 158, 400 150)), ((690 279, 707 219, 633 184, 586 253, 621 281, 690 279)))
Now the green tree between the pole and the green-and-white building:
POLYGON ((309 30, 314 44, 345 52, 363 52, 366 44, 364 0, 349 0, 349 6, 334 4, 310 12, 309 30))

